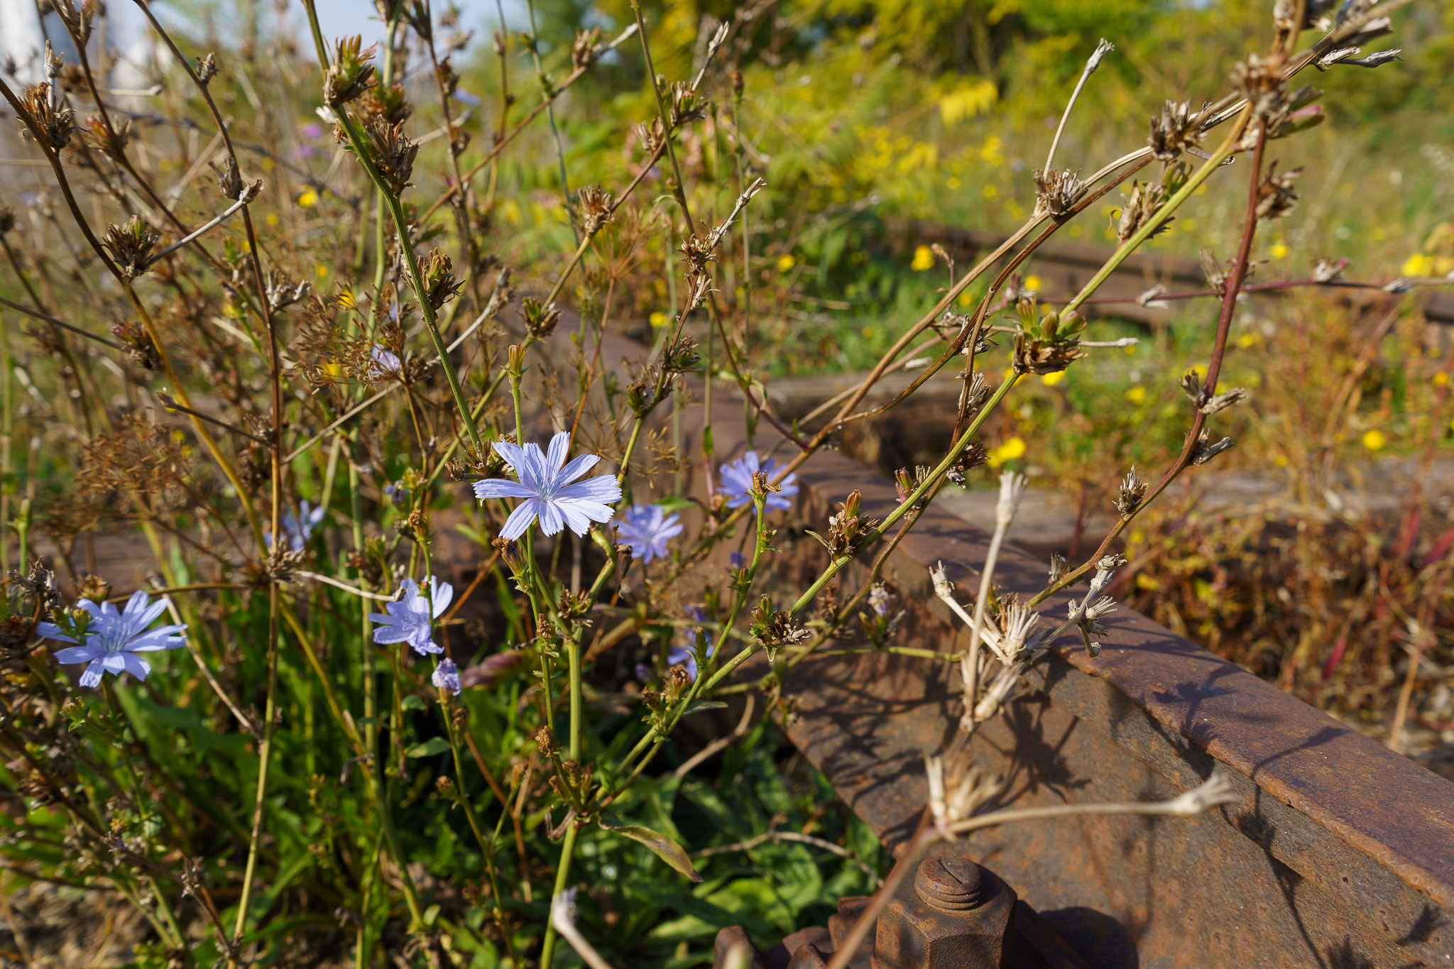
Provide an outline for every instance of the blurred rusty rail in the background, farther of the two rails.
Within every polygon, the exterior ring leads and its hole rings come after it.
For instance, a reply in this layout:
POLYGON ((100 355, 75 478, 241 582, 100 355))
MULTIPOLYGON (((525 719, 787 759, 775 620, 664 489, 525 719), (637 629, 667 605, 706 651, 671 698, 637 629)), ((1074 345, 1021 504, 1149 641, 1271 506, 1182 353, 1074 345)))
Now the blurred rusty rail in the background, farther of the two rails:
MULTIPOLYGON (((1003 243, 1008 235, 989 230, 967 230, 949 225, 933 225, 928 222, 904 222, 893 227, 906 243, 939 243, 961 264, 990 253, 1003 243)), ((1019 270, 1035 273, 1044 279, 1043 289, 1051 295, 1069 295, 1080 289, 1105 261, 1114 250, 1106 246, 1088 246, 1082 243, 1047 243, 1035 250, 1019 270)), ((1261 282, 1261 280, 1253 280, 1261 282)), ((1207 276, 1201 269, 1201 261, 1188 256, 1172 256, 1168 253, 1131 253, 1121 267, 1111 273, 1109 279, 1096 291, 1096 296, 1114 296, 1118 299, 1134 299, 1153 285, 1162 283, 1168 289, 1189 291, 1205 289, 1207 276)), ((1377 295, 1377 291, 1349 291, 1342 293, 1377 295)), ((1264 295, 1275 295, 1269 291, 1264 295)), ((1425 318, 1429 323, 1444 325, 1454 324, 1454 293, 1439 289, 1425 289, 1416 296, 1425 318)), ((1136 302, 1088 304, 1086 311, 1092 314, 1115 315, 1137 323, 1157 324, 1172 318, 1170 309, 1152 309, 1136 302)))

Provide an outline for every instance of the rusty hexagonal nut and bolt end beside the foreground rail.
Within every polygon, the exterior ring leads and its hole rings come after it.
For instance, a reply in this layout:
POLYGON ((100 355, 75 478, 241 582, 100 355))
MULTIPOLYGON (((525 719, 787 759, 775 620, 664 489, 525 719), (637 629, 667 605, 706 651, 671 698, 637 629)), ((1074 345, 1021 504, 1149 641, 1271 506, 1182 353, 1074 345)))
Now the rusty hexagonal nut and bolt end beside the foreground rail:
POLYGON ((1015 892, 952 854, 925 859, 878 917, 874 969, 1002 969, 1015 892))

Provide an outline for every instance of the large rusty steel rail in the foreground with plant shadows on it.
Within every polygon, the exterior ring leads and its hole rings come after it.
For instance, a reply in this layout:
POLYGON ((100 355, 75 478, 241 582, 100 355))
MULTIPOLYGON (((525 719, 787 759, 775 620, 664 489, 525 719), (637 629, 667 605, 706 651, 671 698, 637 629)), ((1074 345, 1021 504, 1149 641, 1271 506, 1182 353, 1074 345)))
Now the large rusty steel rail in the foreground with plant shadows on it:
MULTIPOLYGON (((724 404, 720 459, 740 453, 742 433, 740 404, 724 404)), ((836 453, 810 461, 800 484, 798 511, 817 530, 852 488, 867 514, 896 504, 888 481, 836 453)), ((824 564, 811 539, 775 545, 784 590, 824 564)), ((928 568, 942 559, 973 590, 986 545, 973 523, 925 511, 888 567, 909 610, 900 644, 967 645, 928 568)), ((845 574, 845 597, 865 574, 845 574)), ((996 583, 1034 593, 1045 569, 1002 552, 996 583)), ((1064 615, 1066 597, 1043 609, 1064 615)), ((1009 782, 1000 803, 1170 798, 1218 767, 1240 802, 1191 819, 1008 825, 973 835, 971 854, 1092 966, 1454 965, 1454 784, 1143 616, 1109 620, 1098 658, 1067 636, 974 739, 973 758, 1009 782)), ((926 800, 925 755, 957 748, 957 667, 829 657, 792 670, 785 692, 798 703, 792 742, 901 846, 926 800)))

